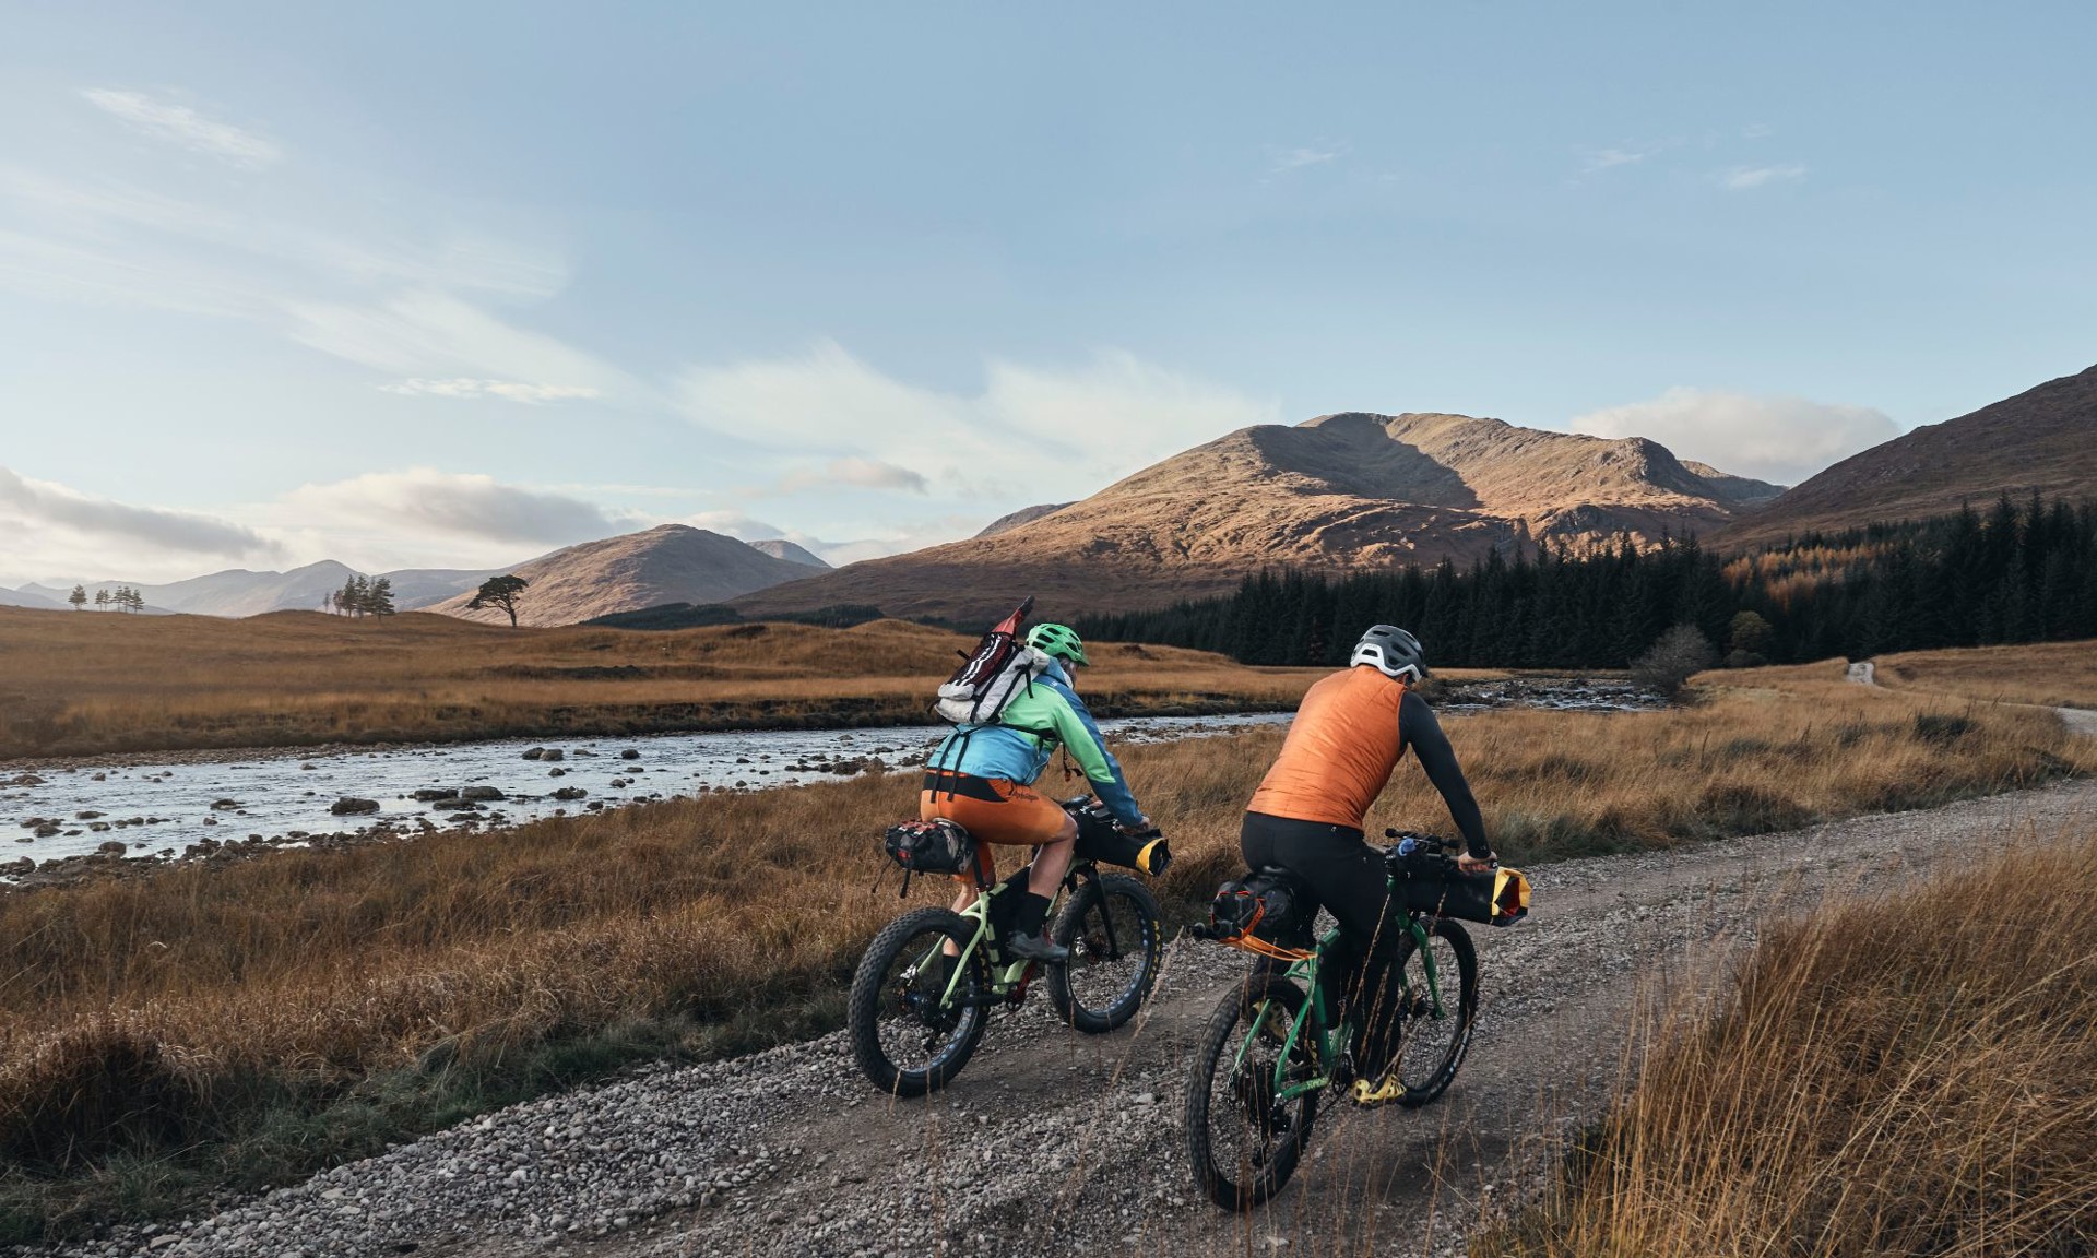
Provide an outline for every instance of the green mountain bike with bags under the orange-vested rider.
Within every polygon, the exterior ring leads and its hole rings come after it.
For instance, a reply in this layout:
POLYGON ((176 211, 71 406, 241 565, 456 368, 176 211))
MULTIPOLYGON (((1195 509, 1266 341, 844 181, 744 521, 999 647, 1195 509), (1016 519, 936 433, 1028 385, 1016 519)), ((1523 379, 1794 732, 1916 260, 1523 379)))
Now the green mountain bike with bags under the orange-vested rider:
MULTIPOLYGON (((1392 891, 1386 929, 1403 933, 1382 998, 1395 1000, 1397 1073, 1405 1084, 1397 1105, 1418 1109, 1455 1080, 1478 1017, 1478 952, 1464 927, 1445 914, 1483 912, 1474 920, 1510 925, 1527 914, 1529 883, 1506 868, 1485 885, 1455 881, 1453 843, 1397 830, 1386 830, 1386 837, 1401 839, 1384 849, 1386 887, 1392 891), (1432 891, 1436 883, 1418 881, 1426 876, 1443 879, 1443 891, 1432 891)), ((1355 1080, 1361 1063, 1353 1044, 1361 1027, 1353 1011, 1342 1017, 1338 981, 1327 975, 1340 931, 1300 946, 1309 941, 1311 918, 1317 916, 1309 887, 1269 866, 1235 895, 1250 897, 1250 923, 1223 927, 1212 920, 1193 927, 1193 933, 1260 960, 1208 1019, 1189 1065, 1185 1130, 1202 1191, 1225 1210, 1250 1210, 1279 1193, 1296 1172, 1311 1143, 1319 1099, 1329 1088, 1344 1094, 1355 1080), (1285 904, 1281 914, 1290 920, 1264 920, 1269 904, 1285 904)), ((1218 904, 1223 899, 1218 895, 1218 904)))

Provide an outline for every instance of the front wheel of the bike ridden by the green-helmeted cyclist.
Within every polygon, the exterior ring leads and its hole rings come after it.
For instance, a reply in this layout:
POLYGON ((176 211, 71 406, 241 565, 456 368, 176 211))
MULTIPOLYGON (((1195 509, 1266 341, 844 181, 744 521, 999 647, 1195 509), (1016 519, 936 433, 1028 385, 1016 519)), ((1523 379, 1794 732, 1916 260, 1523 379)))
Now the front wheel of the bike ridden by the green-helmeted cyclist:
POLYGON ((1048 967, 1057 1017, 1093 1036, 1134 1017, 1164 960, 1162 916, 1158 897, 1134 879, 1086 881, 1051 929, 1051 937, 1069 948, 1065 964, 1048 967))

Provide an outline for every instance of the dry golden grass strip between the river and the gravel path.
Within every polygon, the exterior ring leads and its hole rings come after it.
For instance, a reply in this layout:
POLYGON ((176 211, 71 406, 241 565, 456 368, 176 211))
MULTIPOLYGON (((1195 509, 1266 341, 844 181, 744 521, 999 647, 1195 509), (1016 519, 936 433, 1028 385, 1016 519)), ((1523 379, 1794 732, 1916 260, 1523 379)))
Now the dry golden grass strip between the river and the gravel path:
MULTIPOLYGON (((2028 709, 1868 692, 1841 665, 1665 713, 1449 719, 1504 855, 1665 847, 2097 767, 2028 709)), ((1726 673, 1736 679, 1736 673, 1726 673)), ((1279 732, 1128 749, 1179 912, 1237 870, 1279 732)), ((635 1057, 839 1023, 904 906, 908 776, 275 851, 0 893, 0 1235, 174 1210, 635 1057)), ((1447 830, 1401 769, 1371 824, 1447 830)), ((942 887, 918 883, 929 902, 942 887)))

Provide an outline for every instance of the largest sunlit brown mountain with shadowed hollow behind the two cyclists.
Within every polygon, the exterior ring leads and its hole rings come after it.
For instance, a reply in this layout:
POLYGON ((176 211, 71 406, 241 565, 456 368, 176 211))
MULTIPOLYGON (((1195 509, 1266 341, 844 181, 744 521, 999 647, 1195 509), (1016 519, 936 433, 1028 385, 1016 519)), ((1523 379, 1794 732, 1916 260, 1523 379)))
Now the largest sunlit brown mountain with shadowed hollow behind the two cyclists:
POLYGON ((990 537, 864 560, 734 600, 747 614, 874 604, 973 623, 1040 595, 1042 614, 1218 593, 1269 564, 1468 564, 1564 539, 1709 533, 1780 486, 1604 440, 1468 415, 1319 415, 1174 455, 990 537))

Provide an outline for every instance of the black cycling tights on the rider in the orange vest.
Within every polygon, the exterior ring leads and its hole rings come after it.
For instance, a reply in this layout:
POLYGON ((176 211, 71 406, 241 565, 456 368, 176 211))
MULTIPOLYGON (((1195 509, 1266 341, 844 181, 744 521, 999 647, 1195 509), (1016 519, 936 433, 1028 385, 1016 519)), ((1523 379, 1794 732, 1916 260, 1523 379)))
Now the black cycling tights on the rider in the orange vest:
POLYGON ((1237 849, 1252 868, 1281 866, 1309 883, 1319 904, 1340 923, 1340 946, 1329 956, 1329 962, 1338 962, 1332 977, 1340 981, 1346 1008, 1359 1008, 1361 994, 1371 994, 1369 1025, 1357 1027, 1367 1034, 1355 1044, 1355 1065, 1365 1078, 1374 1078, 1397 1050, 1388 1017, 1397 998, 1384 994, 1390 958, 1403 937, 1403 927, 1388 918, 1384 853, 1348 826, 1254 811, 1246 814, 1237 849))

